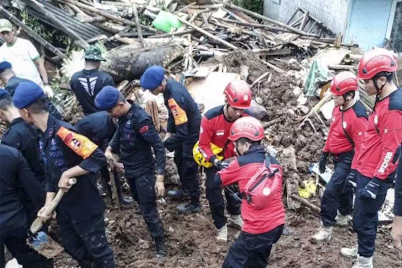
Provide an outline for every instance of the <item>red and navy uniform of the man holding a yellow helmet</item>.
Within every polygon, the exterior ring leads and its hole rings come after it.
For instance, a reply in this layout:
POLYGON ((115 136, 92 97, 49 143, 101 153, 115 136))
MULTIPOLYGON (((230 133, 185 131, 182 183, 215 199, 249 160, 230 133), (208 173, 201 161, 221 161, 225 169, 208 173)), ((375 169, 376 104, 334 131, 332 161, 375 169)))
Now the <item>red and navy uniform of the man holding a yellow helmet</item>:
MULTIPOLYGON (((212 162, 216 158, 213 155, 209 143, 213 143, 216 146, 223 148, 222 156, 225 159, 234 157, 234 145, 233 142, 228 140, 230 127, 234 121, 230 121, 225 118, 224 106, 217 106, 210 109, 205 113, 201 120, 200 136, 199 136, 199 150, 207 159, 212 162)), ((242 116, 251 115, 248 110, 244 110, 242 116)), ((211 210, 212 219, 217 229, 226 225, 227 219, 224 214, 225 201, 222 196, 222 190, 219 187, 214 186, 213 178, 215 177, 217 169, 215 167, 205 168, 206 182, 205 192, 209 201, 209 208, 211 210)), ((234 200, 230 193, 225 191, 226 200, 228 201, 228 212, 231 215, 240 214, 240 204, 234 200)))

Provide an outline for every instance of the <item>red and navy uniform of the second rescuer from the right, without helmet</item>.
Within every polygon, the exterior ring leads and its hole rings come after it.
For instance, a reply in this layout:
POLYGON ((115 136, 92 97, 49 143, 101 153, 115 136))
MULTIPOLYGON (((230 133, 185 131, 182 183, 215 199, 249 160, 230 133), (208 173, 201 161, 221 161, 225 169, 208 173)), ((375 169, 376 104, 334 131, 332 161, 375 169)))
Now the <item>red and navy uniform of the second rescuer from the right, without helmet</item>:
POLYGON ((322 149, 324 153, 334 156, 335 164, 334 173, 321 199, 320 216, 326 227, 336 225, 338 210, 342 215, 352 212, 353 193, 345 191, 345 183, 351 169, 356 169, 356 159, 366 126, 367 112, 359 102, 345 111, 334 107, 328 138, 322 149))

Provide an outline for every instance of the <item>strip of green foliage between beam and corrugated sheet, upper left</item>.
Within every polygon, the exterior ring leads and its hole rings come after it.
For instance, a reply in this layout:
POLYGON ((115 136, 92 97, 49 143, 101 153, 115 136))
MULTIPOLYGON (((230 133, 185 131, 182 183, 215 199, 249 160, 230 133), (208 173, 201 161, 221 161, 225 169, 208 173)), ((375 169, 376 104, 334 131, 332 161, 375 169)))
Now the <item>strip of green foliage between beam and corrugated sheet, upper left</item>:
POLYGON ((50 27, 46 27, 45 25, 43 25, 37 18, 29 16, 26 10, 20 11, 20 16, 25 22, 25 25, 31 28, 43 39, 55 45, 56 47, 62 47, 66 49, 67 55, 69 55, 74 50, 80 49, 80 46, 74 43, 74 40, 65 35, 62 31, 59 31, 57 29, 49 29, 50 27))

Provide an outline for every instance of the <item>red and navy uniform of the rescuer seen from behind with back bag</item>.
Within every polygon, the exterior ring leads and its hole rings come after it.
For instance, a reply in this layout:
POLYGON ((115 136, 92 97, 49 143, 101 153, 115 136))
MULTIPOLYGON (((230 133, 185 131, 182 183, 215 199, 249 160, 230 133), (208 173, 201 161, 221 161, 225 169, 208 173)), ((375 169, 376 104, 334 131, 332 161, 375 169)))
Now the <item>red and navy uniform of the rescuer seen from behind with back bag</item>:
MULTIPOLYGON (((215 185, 228 186, 238 183, 240 192, 250 177, 264 165, 265 150, 263 146, 252 147, 242 156, 236 157, 230 165, 215 175, 215 185)), ((278 161, 269 156, 271 168, 282 168, 278 161)), ((242 232, 235 243, 230 247, 223 268, 265 268, 271 247, 281 237, 285 225, 285 208, 282 202, 282 182, 269 205, 263 209, 255 209, 242 200, 242 218, 244 221, 242 232)))

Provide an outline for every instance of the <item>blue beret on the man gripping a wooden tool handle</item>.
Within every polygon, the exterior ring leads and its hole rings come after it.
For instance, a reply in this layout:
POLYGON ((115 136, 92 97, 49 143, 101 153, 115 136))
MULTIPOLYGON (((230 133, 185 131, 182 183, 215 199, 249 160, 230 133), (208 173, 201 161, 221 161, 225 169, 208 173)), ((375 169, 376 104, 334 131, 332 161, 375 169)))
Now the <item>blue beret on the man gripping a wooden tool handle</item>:
POLYGON ((14 91, 12 101, 18 109, 24 109, 32 105, 37 99, 45 97, 43 89, 35 82, 22 82, 14 91))

